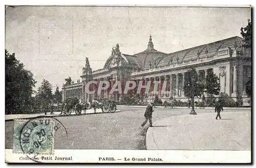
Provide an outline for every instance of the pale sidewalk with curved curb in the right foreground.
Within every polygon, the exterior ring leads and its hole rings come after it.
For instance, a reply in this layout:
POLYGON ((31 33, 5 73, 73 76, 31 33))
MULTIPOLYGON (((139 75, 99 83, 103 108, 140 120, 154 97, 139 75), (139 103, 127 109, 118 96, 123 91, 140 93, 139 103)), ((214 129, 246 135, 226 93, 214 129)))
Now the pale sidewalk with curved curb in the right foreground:
POLYGON ((147 150, 251 150, 251 111, 172 116, 153 123, 147 150))

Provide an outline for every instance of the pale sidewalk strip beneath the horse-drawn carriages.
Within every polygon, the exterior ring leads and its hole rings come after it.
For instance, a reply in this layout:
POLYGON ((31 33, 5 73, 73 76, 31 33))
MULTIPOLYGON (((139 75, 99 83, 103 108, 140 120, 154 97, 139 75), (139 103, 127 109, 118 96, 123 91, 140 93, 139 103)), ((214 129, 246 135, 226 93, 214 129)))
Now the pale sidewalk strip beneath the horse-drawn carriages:
MULTIPOLYGON (((120 112, 120 110, 116 110, 116 112, 120 112)), ((101 109, 97 109, 96 110, 96 113, 102 113, 102 110, 101 109)), ((87 114, 94 114, 94 109, 87 109, 86 110, 86 115, 87 114)), ((76 115, 75 112, 72 112, 71 115, 76 115)), ((83 114, 83 110, 82 110, 82 113, 81 115, 84 115, 83 114)), ((53 115, 51 115, 51 113, 47 113, 47 115, 45 115, 44 113, 41 113, 41 114, 29 114, 29 115, 5 115, 5 120, 8 121, 8 120, 14 120, 14 119, 29 119, 29 118, 34 118, 34 117, 58 117, 58 116, 63 116, 63 114, 60 115, 60 111, 58 112, 54 112, 53 115)))

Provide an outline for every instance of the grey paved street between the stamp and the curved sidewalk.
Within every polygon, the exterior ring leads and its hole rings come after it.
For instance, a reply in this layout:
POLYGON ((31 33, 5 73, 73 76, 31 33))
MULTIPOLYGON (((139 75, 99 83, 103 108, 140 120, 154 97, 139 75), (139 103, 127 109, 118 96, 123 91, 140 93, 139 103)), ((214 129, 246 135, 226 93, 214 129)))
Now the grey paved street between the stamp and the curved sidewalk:
MULTIPOLYGON (((121 111, 109 114, 56 117, 66 127, 68 137, 63 136, 63 132, 55 132, 55 149, 146 149, 140 127, 144 121, 145 107, 118 107, 117 109, 121 111)), ((186 115, 189 111, 189 108, 155 108, 153 123, 172 116, 186 115)), ((196 109, 196 111, 198 114, 208 113, 214 117, 216 115, 212 114, 213 109, 196 109)), ((233 109, 227 109, 225 113, 231 111, 233 109)), ((212 120, 215 120, 214 117, 212 120)), ((12 148, 13 123, 13 121, 6 121, 6 149, 12 148)), ((200 129, 211 128, 208 126, 200 129)))

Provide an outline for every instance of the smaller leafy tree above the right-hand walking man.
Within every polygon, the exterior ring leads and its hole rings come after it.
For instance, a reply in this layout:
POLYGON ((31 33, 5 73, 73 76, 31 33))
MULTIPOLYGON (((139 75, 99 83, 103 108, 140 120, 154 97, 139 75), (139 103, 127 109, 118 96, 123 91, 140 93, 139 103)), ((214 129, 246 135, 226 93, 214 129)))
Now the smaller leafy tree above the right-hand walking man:
MULTIPOLYGON (((219 77, 212 71, 208 71, 205 78, 205 92, 212 98, 214 95, 219 95, 221 90, 221 84, 219 83, 219 77)), ((211 104, 212 104, 211 99, 211 104)))

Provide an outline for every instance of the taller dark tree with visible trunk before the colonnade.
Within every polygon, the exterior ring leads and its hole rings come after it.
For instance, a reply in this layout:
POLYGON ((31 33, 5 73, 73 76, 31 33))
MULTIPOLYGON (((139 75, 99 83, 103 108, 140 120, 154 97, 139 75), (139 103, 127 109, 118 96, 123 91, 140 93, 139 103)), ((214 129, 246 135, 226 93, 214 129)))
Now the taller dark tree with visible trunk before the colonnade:
POLYGON ((192 109, 189 114, 196 115, 194 109, 194 97, 201 97, 203 95, 204 86, 202 82, 199 82, 199 76, 194 68, 185 72, 184 75, 184 95, 191 98, 192 109))

